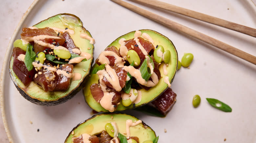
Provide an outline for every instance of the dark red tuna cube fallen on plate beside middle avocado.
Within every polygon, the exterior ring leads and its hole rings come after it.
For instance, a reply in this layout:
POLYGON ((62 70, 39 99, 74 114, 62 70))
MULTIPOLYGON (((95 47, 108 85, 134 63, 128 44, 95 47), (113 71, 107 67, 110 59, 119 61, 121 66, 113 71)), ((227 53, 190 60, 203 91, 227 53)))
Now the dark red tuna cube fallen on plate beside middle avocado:
POLYGON ((176 102, 177 94, 171 88, 167 88, 155 101, 150 104, 153 105, 162 115, 166 115, 176 102))

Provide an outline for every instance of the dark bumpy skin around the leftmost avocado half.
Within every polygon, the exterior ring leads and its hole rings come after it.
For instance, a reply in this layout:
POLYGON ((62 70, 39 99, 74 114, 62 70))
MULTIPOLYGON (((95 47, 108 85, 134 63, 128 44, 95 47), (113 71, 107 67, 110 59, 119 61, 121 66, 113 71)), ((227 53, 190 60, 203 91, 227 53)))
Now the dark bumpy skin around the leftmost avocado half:
MULTIPOLYGON (((77 16, 75 16, 75 15, 73 15, 73 14, 63 13, 63 14, 57 14, 57 15, 64 15, 64 16, 66 15, 66 16, 70 16, 70 17, 76 19, 79 23, 81 23, 81 24, 83 25, 83 23, 81 22, 81 20, 80 20, 77 16)), ((55 16, 57 16, 57 15, 54 15, 54 16, 52 16, 52 17, 55 17, 55 16)), ((50 17, 50 18, 52 18, 52 17, 50 17)), ((50 18, 48 18, 48 19, 50 19, 50 18)), ((46 20, 48 20, 48 19, 46 19, 46 20)), ((46 20, 43 20, 43 21, 46 21, 46 20)), ((43 22, 43 21, 41 21, 41 22, 43 22)), ((37 24, 40 24, 41 22, 39 22, 39 23, 37 23, 37 24)), ((37 25, 37 24, 35 24, 35 25, 37 25)), ((81 28, 82 28, 82 30, 87 31, 83 26, 81 26, 81 28)), ((89 31, 87 31, 87 32, 89 33, 89 31)), ((89 33, 89 34, 90 34, 90 33, 89 33)), ((94 55, 94 46, 93 46, 93 45, 92 45, 91 50, 92 50, 92 61, 91 61, 91 63, 90 63, 90 67, 89 67, 90 70, 92 69, 92 63, 93 63, 93 61, 94 61, 94 57, 93 57, 93 55, 94 55)), ((37 104, 37 105, 44 105, 44 106, 58 105, 58 104, 60 104, 60 103, 64 103, 64 102, 68 101, 69 99, 73 98, 73 97, 75 96, 75 94, 76 94, 77 92, 79 92, 79 91, 82 89, 82 87, 84 86, 84 84, 85 84, 85 82, 86 82, 86 80, 87 80, 87 78, 88 78, 88 76, 89 76, 89 72, 88 72, 88 74, 87 74, 86 76, 83 76, 83 77, 82 77, 81 82, 78 83, 78 85, 76 86, 76 88, 74 88, 73 90, 71 90, 68 94, 66 94, 66 95, 64 95, 64 96, 62 96, 62 97, 60 97, 60 98, 58 98, 58 99, 56 99, 56 100, 42 101, 42 100, 40 100, 40 98, 35 98, 35 97, 33 97, 33 96, 30 96, 29 93, 26 92, 26 88, 21 88, 21 87, 16 83, 15 78, 12 77, 11 71, 12 71, 12 67, 11 67, 11 60, 10 60, 10 63, 9 63, 9 72, 10 72, 11 80, 12 80, 12 82, 14 83, 15 87, 17 88, 17 90, 18 90, 18 91, 20 92, 20 94, 21 94, 25 99, 27 99, 28 101, 30 101, 30 102, 32 102, 32 103, 35 103, 35 104, 37 104)))

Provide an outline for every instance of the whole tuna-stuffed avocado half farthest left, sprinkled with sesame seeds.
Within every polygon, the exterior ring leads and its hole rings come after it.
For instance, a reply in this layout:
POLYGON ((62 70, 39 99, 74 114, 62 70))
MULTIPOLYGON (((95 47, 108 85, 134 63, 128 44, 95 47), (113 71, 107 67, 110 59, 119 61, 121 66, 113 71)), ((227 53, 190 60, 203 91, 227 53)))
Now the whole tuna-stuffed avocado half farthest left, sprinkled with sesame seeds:
POLYGON ((93 63, 95 41, 89 31, 78 17, 67 13, 22 31, 10 59, 15 87, 38 105, 57 105, 71 99, 82 88, 93 63), (78 61, 71 63, 71 59, 78 61))

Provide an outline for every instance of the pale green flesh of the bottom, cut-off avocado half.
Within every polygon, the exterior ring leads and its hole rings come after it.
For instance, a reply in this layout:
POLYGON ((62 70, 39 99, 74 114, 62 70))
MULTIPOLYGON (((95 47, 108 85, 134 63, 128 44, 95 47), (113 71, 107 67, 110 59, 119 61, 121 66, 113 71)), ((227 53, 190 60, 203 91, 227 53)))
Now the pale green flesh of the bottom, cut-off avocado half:
MULTIPOLYGON (((78 137, 82 134, 98 135, 105 130, 105 125, 110 122, 116 122, 120 134, 126 133, 126 120, 131 119, 133 122, 139 120, 134 116, 126 114, 100 114, 95 115, 78 124, 68 135, 65 143, 73 143, 72 137, 78 137), (112 118, 112 117, 113 118, 112 118), (74 135, 72 135, 72 132, 74 135)), ((125 135, 126 136, 126 135, 125 135)), ((155 132, 145 123, 140 123, 137 126, 130 127, 130 136, 137 136, 139 142, 146 140, 154 140, 156 138, 155 132)))

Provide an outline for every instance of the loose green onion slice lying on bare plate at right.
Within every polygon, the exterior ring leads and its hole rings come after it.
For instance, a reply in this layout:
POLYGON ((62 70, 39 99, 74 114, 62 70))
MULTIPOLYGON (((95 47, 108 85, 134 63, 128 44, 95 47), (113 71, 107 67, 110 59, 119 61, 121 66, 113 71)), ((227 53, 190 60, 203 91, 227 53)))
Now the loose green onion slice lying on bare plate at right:
POLYGON ((232 112, 232 109, 227 104, 225 104, 217 99, 206 98, 206 100, 208 101, 208 103, 210 103, 210 105, 212 105, 213 107, 215 107, 221 111, 232 112))

